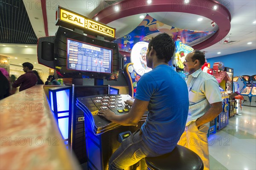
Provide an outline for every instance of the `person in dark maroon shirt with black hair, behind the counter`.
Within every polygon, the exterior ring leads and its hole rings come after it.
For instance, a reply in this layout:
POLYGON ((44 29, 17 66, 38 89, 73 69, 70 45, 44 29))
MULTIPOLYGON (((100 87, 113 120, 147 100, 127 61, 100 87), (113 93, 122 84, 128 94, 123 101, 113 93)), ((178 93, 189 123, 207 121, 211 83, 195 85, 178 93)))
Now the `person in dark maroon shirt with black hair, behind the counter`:
POLYGON ((18 79, 12 84, 13 88, 20 86, 19 91, 33 87, 38 80, 36 75, 32 72, 34 66, 30 62, 24 62, 22 67, 25 74, 18 77, 18 79))

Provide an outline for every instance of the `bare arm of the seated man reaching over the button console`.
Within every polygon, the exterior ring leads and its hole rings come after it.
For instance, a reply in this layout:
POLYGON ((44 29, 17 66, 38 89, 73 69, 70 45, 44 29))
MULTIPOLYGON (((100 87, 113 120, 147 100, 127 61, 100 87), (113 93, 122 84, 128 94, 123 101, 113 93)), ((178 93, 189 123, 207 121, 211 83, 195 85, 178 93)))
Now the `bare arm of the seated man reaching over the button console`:
POLYGON ((104 117, 105 119, 110 120, 111 122, 115 122, 119 125, 130 126, 137 125, 140 121, 141 117, 145 113, 148 108, 149 101, 142 101, 139 99, 134 100, 134 104, 131 107, 129 113, 116 115, 114 112, 110 110, 101 110, 98 112, 99 116, 104 117))

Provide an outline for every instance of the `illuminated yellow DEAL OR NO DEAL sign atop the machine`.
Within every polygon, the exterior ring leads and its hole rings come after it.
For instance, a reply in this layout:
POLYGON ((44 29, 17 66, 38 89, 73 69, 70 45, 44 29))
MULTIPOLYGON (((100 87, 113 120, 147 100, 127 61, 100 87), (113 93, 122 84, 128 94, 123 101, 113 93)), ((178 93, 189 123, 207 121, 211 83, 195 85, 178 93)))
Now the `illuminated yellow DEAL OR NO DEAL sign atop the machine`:
POLYGON ((58 24, 66 28, 74 28, 74 26, 69 26, 67 24, 62 23, 61 21, 64 21, 65 23, 73 24, 75 26, 79 26, 80 28, 83 28, 83 29, 85 28, 89 31, 93 31, 98 34, 103 34, 107 37, 111 37, 110 38, 111 40, 116 39, 115 28, 111 28, 109 26, 106 26, 105 24, 96 22, 95 20, 76 14, 73 11, 69 11, 67 9, 59 7, 58 18, 56 15, 56 25, 58 24))

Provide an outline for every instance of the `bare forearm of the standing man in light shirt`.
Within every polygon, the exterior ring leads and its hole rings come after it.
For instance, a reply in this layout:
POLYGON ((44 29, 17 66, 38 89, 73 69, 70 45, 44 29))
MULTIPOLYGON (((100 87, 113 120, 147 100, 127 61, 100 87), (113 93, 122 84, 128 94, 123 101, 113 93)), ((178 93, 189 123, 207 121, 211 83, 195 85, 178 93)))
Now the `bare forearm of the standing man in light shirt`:
POLYGON ((211 107, 208 109, 208 111, 195 121, 195 124, 197 127, 212 121, 215 117, 217 117, 221 113, 222 102, 212 103, 210 106, 211 107))

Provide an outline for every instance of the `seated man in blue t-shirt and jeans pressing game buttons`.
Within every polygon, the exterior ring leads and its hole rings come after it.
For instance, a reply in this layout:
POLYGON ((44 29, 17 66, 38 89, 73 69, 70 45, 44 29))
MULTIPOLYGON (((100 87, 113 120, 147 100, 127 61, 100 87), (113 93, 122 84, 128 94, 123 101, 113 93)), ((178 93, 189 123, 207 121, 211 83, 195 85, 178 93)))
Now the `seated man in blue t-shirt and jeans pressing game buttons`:
MULTIPOLYGON (((153 70, 145 73, 137 83, 137 92, 131 110, 116 115, 101 110, 98 115, 120 125, 137 125, 148 109, 148 116, 140 130, 122 142, 109 161, 110 170, 122 170, 145 157, 172 152, 185 129, 189 109, 186 82, 168 62, 175 44, 168 34, 158 34, 148 44, 147 66, 153 70)), ((126 101, 131 104, 131 101, 126 101)))

